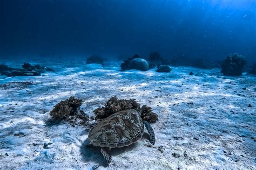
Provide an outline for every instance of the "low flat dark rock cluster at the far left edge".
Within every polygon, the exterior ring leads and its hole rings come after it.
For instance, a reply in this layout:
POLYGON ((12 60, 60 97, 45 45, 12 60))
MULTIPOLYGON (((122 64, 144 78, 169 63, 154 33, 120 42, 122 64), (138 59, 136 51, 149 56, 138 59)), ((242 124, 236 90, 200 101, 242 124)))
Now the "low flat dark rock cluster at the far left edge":
POLYGON ((30 65, 30 63, 24 63, 22 68, 11 68, 6 65, 0 65, 1 75, 8 77, 11 76, 38 76, 44 72, 54 72, 53 69, 40 65, 30 65))

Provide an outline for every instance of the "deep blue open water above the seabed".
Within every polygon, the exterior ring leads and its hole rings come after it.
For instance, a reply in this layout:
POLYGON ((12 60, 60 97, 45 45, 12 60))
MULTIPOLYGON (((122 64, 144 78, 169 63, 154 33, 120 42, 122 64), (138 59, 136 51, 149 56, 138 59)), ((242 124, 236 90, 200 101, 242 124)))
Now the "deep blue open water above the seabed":
POLYGON ((254 0, 3 0, 0 58, 187 56, 256 60, 254 0))

